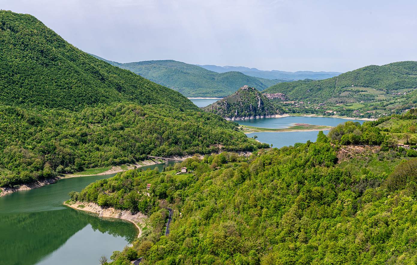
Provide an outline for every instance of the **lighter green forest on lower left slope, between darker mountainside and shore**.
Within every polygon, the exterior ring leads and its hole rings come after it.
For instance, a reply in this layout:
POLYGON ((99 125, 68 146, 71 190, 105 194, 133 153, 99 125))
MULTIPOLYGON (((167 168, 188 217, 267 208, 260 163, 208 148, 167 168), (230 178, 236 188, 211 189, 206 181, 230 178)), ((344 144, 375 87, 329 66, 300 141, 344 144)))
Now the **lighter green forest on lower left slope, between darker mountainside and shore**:
POLYGON ((80 112, 0 106, 0 186, 83 168, 134 163, 146 155, 211 154, 266 147, 204 111, 135 104, 80 112))

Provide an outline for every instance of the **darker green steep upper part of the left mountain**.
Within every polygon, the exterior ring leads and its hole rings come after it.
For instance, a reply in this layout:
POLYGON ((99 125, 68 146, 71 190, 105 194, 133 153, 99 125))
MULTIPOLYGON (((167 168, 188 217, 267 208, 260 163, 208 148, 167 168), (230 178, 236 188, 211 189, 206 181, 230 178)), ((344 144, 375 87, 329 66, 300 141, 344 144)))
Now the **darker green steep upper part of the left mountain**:
POLYGON ((78 50, 31 15, 0 11, 0 102, 73 109, 135 102, 195 109, 178 92, 78 50))

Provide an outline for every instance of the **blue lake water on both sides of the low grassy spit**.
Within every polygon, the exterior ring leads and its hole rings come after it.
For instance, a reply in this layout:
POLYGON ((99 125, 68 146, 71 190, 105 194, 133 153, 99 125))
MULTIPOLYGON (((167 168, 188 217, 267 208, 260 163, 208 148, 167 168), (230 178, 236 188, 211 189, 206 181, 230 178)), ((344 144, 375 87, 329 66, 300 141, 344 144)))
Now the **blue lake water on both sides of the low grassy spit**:
MULTIPOLYGON (((364 121, 348 120, 331 117, 303 117, 303 116, 287 116, 282 118, 261 118, 251 119, 248 121, 239 121, 241 125, 254 126, 259 128, 281 129, 288 128, 296 123, 306 123, 314 125, 337 126, 346 121, 358 121, 363 124, 364 121)), ((328 134, 329 131, 323 131, 328 134)), ((273 147, 281 148, 283 146, 294 146, 295 143, 305 143, 310 140, 317 140, 319 131, 292 131, 292 132, 255 132, 246 134, 248 137, 258 136, 256 140, 261 143, 272 144, 273 147)))

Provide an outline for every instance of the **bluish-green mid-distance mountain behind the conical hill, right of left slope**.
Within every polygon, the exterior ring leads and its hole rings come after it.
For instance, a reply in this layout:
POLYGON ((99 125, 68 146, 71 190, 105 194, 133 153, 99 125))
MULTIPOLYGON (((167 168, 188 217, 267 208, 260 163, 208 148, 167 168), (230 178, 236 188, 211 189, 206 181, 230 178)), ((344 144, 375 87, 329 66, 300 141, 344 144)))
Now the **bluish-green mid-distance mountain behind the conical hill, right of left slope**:
POLYGON ((186 97, 226 97, 236 91, 235 87, 241 87, 244 84, 263 90, 283 81, 251 77, 236 71, 219 74, 203 67, 174 60, 129 63, 105 61, 174 89, 186 97))

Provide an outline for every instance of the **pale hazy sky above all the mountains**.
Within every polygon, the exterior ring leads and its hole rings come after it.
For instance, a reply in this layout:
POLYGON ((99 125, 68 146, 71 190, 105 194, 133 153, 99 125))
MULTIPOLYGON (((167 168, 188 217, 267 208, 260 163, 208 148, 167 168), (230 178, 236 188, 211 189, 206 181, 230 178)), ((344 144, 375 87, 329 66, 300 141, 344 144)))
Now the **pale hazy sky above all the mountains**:
POLYGON ((0 0, 116 62, 347 72, 417 60, 416 1, 0 0))

